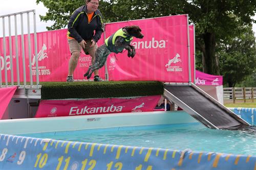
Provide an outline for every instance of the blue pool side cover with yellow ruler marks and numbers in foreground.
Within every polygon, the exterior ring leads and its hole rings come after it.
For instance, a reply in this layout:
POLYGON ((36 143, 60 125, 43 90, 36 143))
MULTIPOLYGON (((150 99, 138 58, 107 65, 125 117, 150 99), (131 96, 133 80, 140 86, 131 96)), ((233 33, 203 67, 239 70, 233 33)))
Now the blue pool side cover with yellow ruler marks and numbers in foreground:
POLYGON ((241 170, 256 156, 0 135, 0 169, 241 170))

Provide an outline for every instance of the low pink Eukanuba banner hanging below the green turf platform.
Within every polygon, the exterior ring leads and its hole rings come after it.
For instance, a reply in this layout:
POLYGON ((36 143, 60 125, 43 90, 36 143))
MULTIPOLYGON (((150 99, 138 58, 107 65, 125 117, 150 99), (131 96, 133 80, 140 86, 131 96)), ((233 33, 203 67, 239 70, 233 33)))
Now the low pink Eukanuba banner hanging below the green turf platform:
POLYGON ((35 117, 153 111, 160 95, 134 99, 42 100, 35 117))

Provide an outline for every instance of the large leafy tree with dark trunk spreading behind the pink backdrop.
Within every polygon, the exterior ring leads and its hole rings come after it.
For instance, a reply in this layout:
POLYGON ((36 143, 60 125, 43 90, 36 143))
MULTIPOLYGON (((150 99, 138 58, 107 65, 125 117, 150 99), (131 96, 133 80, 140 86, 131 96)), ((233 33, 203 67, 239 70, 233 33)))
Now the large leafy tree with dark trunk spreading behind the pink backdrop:
MULTIPOLYGON (((70 14, 84 4, 80 0, 37 0, 49 12, 41 16, 44 21, 54 20, 48 29, 67 25, 70 14)), ((216 44, 237 34, 237 26, 250 26, 255 20, 255 0, 104 0, 99 9, 104 21, 122 21, 175 14, 188 14, 196 24, 196 46, 202 52, 204 72, 219 75, 216 44)))

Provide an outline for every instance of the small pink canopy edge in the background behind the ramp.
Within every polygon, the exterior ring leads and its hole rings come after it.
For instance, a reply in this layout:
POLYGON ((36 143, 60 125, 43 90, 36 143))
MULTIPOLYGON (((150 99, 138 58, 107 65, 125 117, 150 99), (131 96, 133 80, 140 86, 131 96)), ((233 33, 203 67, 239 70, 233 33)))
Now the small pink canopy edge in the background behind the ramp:
POLYGON ((220 86, 223 83, 222 76, 208 75, 204 72, 196 70, 196 84, 197 85, 215 85, 220 86))

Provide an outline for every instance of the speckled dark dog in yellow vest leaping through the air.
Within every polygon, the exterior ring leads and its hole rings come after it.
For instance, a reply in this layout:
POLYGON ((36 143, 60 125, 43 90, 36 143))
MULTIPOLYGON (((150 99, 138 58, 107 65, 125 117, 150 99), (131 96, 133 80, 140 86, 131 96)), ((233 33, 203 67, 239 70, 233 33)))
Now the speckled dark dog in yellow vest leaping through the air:
POLYGON ((84 77, 90 79, 94 70, 103 67, 106 62, 106 58, 110 53, 122 53, 123 49, 128 51, 128 57, 135 56, 135 47, 131 45, 133 37, 142 39, 144 35, 141 33, 141 29, 138 26, 127 26, 119 29, 105 40, 105 43, 97 48, 95 52, 95 61, 89 66, 88 71, 84 74, 84 77))

